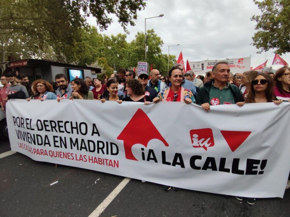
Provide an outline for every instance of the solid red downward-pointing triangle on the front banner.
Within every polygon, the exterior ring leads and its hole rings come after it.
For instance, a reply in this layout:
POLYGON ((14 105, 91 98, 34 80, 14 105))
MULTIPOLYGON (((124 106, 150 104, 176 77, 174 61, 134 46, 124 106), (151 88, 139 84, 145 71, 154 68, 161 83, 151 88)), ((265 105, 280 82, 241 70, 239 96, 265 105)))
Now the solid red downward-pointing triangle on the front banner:
POLYGON ((250 131, 220 131, 229 145, 232 152, 234 152, 251 134, 250 131))

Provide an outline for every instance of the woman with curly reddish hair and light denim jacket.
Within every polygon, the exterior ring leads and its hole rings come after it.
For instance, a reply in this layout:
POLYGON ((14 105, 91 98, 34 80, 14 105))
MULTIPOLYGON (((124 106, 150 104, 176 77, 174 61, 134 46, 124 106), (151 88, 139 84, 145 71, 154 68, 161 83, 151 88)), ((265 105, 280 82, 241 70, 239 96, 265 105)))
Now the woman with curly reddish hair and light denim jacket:
POLYGON ((53 86, 45 80, 36 80, 32 83, 34 96, 27 98, 26 100, 56 100, 56 95, 54 93, 53 86))

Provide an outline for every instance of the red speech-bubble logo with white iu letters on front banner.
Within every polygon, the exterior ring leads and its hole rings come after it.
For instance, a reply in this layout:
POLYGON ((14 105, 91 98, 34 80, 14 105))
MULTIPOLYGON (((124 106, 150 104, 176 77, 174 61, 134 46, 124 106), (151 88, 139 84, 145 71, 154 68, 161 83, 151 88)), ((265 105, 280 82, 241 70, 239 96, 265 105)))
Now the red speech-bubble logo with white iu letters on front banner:
POLYGON ((212 129, 210 128, 191 130, 189 133, 194 148, 204 148, 207 151, 208 147, 215 145, 212 129))

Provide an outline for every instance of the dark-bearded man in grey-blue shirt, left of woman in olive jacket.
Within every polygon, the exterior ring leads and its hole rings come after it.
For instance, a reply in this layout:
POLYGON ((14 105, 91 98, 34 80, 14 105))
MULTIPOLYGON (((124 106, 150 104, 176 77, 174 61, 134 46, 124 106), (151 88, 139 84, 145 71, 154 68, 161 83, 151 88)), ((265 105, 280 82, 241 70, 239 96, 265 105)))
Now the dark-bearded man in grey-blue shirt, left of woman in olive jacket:
POLYGON ((54 79, 57 86, 59 87, 56 90, 56 100, 59 102, 60 100, 70 98, 73 90, 71 86, 68 85, 67 77, 63 74, 57 74, 54 79))

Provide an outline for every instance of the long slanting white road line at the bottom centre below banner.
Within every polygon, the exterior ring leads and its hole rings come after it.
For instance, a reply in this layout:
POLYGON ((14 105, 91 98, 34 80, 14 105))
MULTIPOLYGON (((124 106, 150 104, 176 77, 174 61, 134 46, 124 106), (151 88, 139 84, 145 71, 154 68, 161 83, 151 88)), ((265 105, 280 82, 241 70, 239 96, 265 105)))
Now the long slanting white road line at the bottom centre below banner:
POLYGON ((115 189, 107 196, 107 198, 104 199, 103 202, 91 213, 91 215, 89 215, 89 217, 99 217, 130 180, 131 178, 123 179, 121 183, 118 184, 118 186, 115 187, 115 189))

